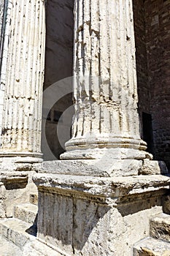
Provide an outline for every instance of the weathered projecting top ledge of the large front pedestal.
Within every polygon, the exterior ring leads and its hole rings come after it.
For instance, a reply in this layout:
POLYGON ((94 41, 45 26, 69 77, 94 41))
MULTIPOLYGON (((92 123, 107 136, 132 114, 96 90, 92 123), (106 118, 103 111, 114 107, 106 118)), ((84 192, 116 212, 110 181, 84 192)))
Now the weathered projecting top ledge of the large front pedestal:
POLYGON ((62 189, 66 192, 78 192, 106 198, 169 189, 170 177, 153 175, 99 178, 37 173, 33 176, 33 181, 39 189, 62 189))

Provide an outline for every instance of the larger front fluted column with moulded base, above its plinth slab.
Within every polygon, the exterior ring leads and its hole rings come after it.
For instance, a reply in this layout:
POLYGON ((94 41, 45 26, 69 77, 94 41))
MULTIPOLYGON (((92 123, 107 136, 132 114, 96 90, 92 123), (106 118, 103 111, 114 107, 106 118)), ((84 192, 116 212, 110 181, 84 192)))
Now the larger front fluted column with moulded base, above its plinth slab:
POLYGON ((145 157, 139 135, 132 0, 76 0, 72 139, 61 159, 145 157))

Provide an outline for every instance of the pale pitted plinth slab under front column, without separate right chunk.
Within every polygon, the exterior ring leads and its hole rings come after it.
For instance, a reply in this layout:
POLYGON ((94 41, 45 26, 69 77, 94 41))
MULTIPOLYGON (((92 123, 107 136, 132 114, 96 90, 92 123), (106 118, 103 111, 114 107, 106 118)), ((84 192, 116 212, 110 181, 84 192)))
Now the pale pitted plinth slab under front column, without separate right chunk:
POLYGON ((58 160, 42 162, 34 165, 34 170, 40 173, 58 173, 79 176, 134 176, 142 170, 142 161, 136 159, 101 159, 58 160))

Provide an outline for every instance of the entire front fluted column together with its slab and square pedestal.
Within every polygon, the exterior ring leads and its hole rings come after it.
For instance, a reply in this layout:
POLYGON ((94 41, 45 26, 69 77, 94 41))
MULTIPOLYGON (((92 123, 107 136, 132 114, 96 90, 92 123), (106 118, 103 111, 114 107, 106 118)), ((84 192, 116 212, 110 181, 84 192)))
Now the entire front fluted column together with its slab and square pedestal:
POLYGON ((57 255, 131 256, 170 184, 139 136, 132 1, 74 12, 72 139, 63 160, 36 165, 37 238, 57 255))

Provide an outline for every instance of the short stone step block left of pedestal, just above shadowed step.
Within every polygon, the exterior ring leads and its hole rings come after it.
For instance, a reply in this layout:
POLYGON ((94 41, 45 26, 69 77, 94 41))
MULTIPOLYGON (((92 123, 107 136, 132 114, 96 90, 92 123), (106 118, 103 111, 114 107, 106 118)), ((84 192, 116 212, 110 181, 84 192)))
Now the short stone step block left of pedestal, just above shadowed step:
POLYGON ((14 217, 23 220, 23 222, 36 224, 37 211, 38 206, 31 203, 20 204, 14 207, 14 217))

